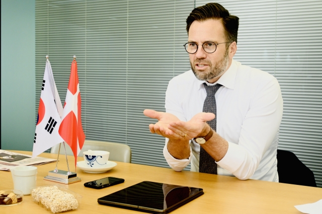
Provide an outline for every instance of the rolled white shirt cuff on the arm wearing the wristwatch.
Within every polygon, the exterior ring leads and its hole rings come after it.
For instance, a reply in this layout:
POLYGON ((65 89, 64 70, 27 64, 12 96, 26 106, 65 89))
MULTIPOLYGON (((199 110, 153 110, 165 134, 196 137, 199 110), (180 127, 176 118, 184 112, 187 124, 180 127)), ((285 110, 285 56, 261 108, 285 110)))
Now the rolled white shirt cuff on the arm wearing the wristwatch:
MULTIPOLYGON (((235 175, 234 172, 236 172, 241 165, 247 165, 247 163, 250 161, 251 160, 248 160, 248 155, 245 150, 240 149, 237 144, 228 142, 228 150, 226 155, 216 163, 235 175)), ((235 176, 238 177, 238 175, 235 176)))

